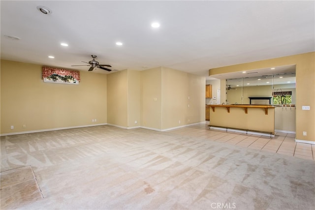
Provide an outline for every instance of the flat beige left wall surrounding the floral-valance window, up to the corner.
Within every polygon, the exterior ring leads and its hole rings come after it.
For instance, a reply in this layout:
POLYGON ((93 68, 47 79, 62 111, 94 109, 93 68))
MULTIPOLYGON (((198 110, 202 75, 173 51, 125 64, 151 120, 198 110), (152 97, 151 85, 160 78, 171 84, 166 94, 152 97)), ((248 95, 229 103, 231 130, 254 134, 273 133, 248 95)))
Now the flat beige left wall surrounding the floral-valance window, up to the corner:
POLYGON ((1 134, 107 122, 105 74, 80 72, 79 85, 44 83, 41 65, 9 60, 0 73, 1 134))

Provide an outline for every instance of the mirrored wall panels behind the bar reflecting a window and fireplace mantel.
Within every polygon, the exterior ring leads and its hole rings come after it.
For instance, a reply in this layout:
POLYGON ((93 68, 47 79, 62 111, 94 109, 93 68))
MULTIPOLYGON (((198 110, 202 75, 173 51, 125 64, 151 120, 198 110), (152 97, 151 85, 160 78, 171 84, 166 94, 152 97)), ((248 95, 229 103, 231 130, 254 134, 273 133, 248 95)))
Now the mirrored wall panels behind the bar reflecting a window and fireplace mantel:
POLYGON ((295 104, 295 87, 295 71, 227 79, 226 104, 295 104))

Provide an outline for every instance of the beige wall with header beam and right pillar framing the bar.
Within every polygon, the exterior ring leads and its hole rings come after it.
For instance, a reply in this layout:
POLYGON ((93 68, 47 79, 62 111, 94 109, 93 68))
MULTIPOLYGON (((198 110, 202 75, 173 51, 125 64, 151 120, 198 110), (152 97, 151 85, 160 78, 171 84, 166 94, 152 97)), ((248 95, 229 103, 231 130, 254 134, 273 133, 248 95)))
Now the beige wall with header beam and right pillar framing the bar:
MULTIPOLYGON (((315 142, 315 53, 260 60, 209 70, 209 75, 296 64, 296 139, 315 142), (302 110, 310 106, 311 110, 302 110), (307 136, 303 136, 303 131, 307 136)), ((221 80, 222 81, 222 80, 221 80)), ((222 86, 222 84, 221 84, 222 86)), ((224 97, 224 96, 223 96, 224 97)))

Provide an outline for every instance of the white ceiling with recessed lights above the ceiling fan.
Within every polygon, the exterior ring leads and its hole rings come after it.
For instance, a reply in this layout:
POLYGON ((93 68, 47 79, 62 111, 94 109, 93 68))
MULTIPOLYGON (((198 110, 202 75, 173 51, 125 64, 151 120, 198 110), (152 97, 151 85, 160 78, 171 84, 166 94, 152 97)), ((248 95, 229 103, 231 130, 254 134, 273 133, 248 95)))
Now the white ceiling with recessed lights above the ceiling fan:
POLYGON ((315 51, 314 0, 1 0, 0 7, 1 59, 81 71, 89 67, 71 65, 97 55, 113 70, 164 66, 207 77, 210 68, 315 51))

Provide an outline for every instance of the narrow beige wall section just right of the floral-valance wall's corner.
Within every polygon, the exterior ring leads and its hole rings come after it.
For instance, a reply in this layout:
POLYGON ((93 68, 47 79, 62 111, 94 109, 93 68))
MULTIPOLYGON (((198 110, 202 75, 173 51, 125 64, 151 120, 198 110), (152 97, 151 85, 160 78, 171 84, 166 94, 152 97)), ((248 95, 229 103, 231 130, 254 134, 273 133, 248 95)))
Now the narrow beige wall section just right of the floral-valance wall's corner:
POLYGON ((128 126, 127 70, 107 75, 107 123, 128 126))

